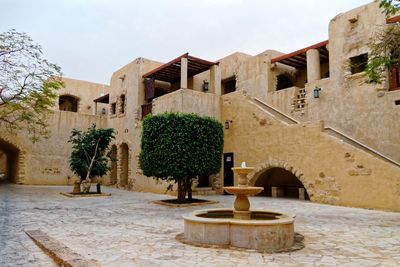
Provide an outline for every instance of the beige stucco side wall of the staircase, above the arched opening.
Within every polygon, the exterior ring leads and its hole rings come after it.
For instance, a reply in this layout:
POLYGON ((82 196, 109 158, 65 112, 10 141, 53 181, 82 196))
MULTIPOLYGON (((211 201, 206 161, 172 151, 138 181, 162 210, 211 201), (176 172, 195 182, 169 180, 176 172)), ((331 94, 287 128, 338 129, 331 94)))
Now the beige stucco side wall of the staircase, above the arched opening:
POLYGON ((321 122, 286 125, 243 92, 223 96, 224 152, 255 166, 251 177, 285 168, 304 184, 312 201, 400 211, 400 168, 323 132, 321 122))

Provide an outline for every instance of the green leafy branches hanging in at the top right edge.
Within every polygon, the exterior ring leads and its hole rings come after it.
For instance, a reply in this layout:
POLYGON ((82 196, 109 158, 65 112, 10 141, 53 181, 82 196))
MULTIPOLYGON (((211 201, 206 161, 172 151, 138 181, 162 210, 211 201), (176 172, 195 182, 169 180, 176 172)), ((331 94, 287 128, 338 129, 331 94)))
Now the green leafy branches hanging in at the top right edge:
MULTIPOLYGON (((380 7, 386 16, 400 10, 400 1, 382 0, 380 7)), ((386 71, 400 66, 400 25, 382 26, 369 43, 369 60, 365 70, 368 83, 380 84, 386 77, 386 71)))

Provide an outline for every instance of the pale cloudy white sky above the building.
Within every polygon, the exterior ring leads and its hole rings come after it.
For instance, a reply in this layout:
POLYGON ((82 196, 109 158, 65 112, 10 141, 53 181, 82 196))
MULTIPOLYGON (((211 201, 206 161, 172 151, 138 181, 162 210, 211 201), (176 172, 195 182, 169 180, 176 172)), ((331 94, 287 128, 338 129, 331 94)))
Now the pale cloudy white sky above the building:
POLYGON ((0 32, 26 32, 67 77, 106 83, 137 57, 285 53, 328 39, 369 0, 0 0, 0 32))

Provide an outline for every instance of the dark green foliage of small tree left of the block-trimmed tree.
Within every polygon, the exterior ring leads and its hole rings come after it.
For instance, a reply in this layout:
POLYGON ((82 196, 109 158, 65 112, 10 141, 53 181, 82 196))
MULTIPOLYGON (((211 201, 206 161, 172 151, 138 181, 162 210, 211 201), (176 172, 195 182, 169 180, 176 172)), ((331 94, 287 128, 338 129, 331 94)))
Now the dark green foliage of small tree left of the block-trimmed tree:
POLYGON ((81 181, 95 176, 102 177, 107 173, 109 160, 115 160, 109 149, 114 138, 114 129, 97 129, 95 124, 87 131, 72 130, 68 141, 72 143, 69 164, 81 181))

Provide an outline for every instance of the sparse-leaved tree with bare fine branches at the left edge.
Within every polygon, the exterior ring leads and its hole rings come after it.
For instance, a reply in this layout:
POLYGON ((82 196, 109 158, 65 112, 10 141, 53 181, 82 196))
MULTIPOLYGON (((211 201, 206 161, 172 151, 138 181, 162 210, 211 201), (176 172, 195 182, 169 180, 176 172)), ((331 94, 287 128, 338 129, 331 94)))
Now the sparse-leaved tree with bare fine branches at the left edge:
POLYGON ((26 129, 33 141, 48 135, 46 114, 63 87, 61 70, 43 58, 25 33, 0 34, 0 126, 26 129))

